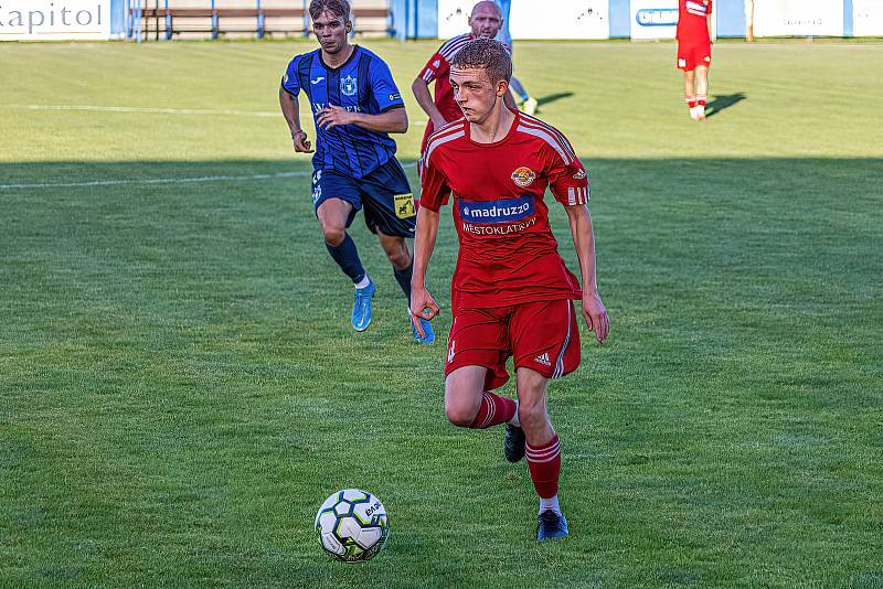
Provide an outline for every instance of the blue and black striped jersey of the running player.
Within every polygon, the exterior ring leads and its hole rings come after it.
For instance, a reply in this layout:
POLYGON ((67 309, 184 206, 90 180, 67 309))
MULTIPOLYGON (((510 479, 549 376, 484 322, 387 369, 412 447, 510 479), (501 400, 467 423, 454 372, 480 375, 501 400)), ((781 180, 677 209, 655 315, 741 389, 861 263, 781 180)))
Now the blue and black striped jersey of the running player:
MULTIPOLYGON (((327 66, 320 49, 297 55, 283 76, 283 87, 295 97, 300 90, 307 94, 313 122, 319 110, 328 105, 368 115, 405 106, 386 63, 359 45, 339 67, 327 66)), ((394 154, 395 141, 386 133, 357 125, 329 130, 316 125, 312 167, 317 170, 336 170, 364 178, 394 154)))

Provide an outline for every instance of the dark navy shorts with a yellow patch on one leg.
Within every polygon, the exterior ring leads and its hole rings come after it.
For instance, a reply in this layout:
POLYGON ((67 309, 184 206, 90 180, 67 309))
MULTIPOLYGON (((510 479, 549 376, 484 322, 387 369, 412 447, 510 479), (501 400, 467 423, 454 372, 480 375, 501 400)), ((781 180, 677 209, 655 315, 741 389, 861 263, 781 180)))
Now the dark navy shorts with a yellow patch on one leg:
POLYGON ((312 210, 318 211, 328 199, 340 199, 352 205, 347 227, 355 213, 365 210, 365 225, 371 233, 380 231, 394 237, 414 237, 417 214, 414 195, 405 171, 395 158, 362 179, 334 170, 312 173, 312 210))

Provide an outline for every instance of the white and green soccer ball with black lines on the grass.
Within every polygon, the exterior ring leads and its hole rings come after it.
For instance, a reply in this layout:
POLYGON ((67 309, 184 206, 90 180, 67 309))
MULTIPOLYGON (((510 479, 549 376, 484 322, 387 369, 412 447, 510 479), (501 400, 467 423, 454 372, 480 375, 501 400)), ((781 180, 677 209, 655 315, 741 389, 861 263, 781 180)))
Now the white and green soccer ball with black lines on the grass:
POLYGON ((344 489, 319 507, 316 533, 322 549, 338 560, 370 560, 381 551, 390 535, 386 510, 371 493, 344 489))

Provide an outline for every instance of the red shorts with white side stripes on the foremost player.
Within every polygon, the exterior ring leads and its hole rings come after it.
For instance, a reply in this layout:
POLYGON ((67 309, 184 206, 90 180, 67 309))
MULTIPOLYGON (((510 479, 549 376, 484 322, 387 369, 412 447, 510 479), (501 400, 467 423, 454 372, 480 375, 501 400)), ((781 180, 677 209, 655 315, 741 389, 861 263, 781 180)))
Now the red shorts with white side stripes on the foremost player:
POLYGON ((445 376, 464 366, 488 368, 486 390, 509 381, 506 361, 546 378, 579 366, 579 329, 568 299, 525 302, 492 309, 460 309, 448 336, 445 376))

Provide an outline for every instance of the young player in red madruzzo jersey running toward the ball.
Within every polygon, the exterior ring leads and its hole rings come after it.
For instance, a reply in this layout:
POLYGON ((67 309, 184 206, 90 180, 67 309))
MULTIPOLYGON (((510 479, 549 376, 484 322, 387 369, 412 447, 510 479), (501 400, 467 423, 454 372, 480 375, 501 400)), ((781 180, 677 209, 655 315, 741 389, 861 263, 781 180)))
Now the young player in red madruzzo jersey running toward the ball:
POLYGON ((461 427, 507 424, 504 454, 518 462, 526 453, 540 495, 542 540, 567 535, 557 499, 561 450, 546 390, 550 378, 579 364, 572 301, 581 301, 598 342, 609 322, 595 279, 586 172, 561 132, 503 104, 511 75, 509 53, 490 39, 467 43, 454 57, 450 83, 465 118, 433 133, 424 154, 411 313, 415 325, 438 313, 425 276, 438 211, 454 195, 460 250, 451 281, 445 413, 461 427), (546 186, 567 212, 582 290, 557 253, 543 201, 546 186), (491 393, 509 378, 509 356, 518 403, 491 393))

